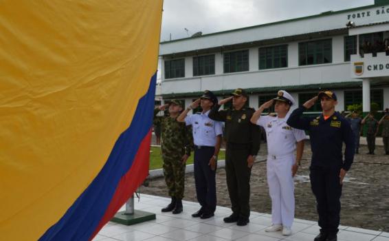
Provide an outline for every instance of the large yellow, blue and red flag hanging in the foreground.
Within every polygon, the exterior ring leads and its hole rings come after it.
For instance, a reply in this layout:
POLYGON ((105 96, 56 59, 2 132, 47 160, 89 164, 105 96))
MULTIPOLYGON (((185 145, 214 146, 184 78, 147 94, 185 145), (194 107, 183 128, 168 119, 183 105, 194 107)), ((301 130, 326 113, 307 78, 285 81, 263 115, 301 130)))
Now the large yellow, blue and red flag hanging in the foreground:
POLYGON ((148 174, 162 0, 0 2, 0 240, 91 240, 148 174))

